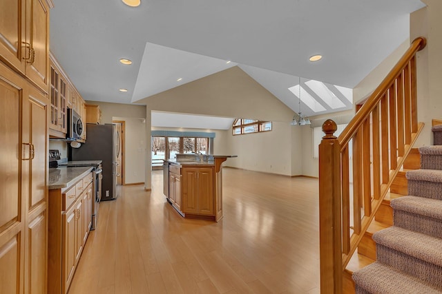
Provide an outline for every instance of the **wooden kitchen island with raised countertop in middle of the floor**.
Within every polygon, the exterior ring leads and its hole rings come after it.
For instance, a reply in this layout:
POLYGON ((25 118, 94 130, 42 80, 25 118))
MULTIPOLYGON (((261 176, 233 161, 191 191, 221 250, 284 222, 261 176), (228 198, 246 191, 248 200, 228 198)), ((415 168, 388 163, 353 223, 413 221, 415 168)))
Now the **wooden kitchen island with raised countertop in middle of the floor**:
POLYGON ((222 162, 237 156, 176 156, 176 159, 164 160, 167 200, 184 218, 218 222, 222 218, 222 162))

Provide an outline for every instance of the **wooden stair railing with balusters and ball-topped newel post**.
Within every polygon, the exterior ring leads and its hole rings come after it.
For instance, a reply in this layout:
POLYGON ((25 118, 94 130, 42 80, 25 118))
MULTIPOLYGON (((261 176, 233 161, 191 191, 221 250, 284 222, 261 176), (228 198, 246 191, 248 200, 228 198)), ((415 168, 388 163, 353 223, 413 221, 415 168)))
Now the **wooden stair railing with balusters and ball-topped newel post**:
POLYGON ((320 289, 343 292, 343 270, 403 165, 417 122, 415 39, 343 130, 323 124, 319 146, 320 289))

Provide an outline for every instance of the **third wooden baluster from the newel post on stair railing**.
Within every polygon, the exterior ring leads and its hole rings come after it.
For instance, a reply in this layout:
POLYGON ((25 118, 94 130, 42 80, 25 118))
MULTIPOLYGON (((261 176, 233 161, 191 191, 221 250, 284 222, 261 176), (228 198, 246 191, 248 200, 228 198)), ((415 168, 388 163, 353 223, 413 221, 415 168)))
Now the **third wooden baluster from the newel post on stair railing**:
MULTIPOLYGON (((369 117, 362 125, 362 169, 363 169, 363 203, 364 215, 372 214, 372 176, 370 174, 370 156, 372 154, 370 147, 370 119, 369 117)), ((358 167, 358 165, 356 165, 358 167)))

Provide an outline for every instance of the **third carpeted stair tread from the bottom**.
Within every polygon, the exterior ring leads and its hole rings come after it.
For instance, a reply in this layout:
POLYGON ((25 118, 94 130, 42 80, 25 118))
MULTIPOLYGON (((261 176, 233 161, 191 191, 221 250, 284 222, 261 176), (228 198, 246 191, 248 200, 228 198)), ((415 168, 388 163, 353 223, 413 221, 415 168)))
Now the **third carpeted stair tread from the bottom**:
POLYGON ((395 210, 407 211, 409 213, 442 220, 442 200, 403 196, 391 200, 390 205, 395 210))

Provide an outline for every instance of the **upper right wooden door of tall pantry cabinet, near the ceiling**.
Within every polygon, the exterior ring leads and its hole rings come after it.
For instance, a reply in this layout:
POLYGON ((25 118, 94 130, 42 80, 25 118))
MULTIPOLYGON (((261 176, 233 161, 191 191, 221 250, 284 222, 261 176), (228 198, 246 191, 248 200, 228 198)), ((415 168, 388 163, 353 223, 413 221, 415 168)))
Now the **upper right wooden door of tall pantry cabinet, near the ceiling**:
POLYGON ((26 45, 28 44, 31 50, 30 60, 26 61, 26 76, 47 92, 49 9, 46 0, 26 0, 26 45))

